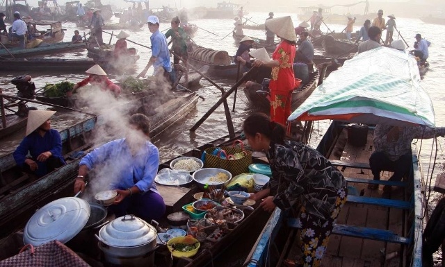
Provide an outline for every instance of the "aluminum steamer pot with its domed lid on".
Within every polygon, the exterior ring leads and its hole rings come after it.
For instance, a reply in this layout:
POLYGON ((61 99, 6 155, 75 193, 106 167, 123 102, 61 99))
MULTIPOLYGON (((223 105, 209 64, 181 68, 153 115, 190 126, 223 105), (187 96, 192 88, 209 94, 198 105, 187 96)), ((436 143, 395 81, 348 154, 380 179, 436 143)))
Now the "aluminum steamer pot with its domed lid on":
POLYGON ((156 248, 156 229, 134 215, 116 218, 99 230, 99 248, 106 257, 138 257, 156 248))

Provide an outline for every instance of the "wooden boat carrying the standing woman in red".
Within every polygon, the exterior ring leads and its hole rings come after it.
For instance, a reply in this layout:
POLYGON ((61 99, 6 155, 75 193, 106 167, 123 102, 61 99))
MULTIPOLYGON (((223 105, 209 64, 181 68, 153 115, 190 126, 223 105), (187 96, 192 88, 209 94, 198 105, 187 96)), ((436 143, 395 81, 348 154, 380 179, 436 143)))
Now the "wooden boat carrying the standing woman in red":
MULTIPOLYGON (((324 70, 325 71, 325 70, 324 70)), ((315 71, 309 74, 309 83, 301 88, 294 89, 292 92, 292 109, 296 109, 312 93, 320 80, 320 72, 315 71)), ((321 78, 323 80, 323 78, 321 78)), ((268 92, 262 89, 259 83, 246 85, 243 89, 245 97, 248 98, 250 105, 260 110, 270 110, 270 99, 268 92)))

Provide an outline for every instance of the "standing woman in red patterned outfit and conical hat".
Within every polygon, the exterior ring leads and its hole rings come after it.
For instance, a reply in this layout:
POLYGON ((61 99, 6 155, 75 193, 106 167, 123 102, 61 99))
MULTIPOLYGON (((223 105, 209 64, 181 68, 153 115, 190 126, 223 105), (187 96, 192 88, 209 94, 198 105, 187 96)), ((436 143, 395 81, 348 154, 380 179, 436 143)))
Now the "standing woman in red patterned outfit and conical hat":
POLYGON ((280 44, 272 54, 272 60, 255 60, 253 66, 272 67, 270 75, 270 119, 286 125, 291 115, 291 95, 296 87, 292 64, 296 55, 295 28, 290 16, 266 20, 266 26, 281 38, 280 44))

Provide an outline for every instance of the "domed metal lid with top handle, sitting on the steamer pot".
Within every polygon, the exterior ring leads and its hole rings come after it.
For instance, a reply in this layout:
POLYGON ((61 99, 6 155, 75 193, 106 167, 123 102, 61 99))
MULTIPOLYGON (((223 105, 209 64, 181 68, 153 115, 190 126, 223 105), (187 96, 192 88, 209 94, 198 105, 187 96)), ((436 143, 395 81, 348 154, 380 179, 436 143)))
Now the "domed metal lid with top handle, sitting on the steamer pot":
POLYGON ((143 246, 156 240, 156 236, 156 228, 134 215, 115 218, 99 230, 102 242, 118 248, 143 246))

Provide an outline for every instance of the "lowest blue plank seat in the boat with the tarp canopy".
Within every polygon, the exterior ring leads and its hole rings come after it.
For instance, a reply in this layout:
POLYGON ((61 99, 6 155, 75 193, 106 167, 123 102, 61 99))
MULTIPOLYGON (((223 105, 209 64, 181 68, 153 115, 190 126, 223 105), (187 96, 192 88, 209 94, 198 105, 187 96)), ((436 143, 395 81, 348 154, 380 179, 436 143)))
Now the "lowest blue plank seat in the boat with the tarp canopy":
MULTIPOLYGON (((297 218, 288 218, 287 225, 293 228, 299 228, 297 224, 297 218)), ((390 230, 382 230, 371 227, 359 227, 352 225, 334 225, 332 234, 338 234, 340 236, 352 236, 362 239, 371 239, 376 241, 410 244, 411 239, 405 236, 399 236, 390 230)))

